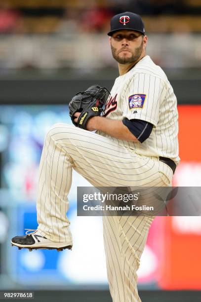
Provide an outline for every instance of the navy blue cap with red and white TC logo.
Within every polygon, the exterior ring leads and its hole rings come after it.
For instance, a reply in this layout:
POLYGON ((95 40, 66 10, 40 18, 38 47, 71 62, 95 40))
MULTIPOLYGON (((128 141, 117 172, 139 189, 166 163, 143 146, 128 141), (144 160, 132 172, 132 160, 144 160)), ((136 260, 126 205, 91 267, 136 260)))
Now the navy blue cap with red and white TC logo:
POLYGON ((111 19, 111 30, 108 36, 112 36, 115 32, 123 29, 137 31, 145 35, 144 23, 139 15, 126 11, 115 15, 111 19))

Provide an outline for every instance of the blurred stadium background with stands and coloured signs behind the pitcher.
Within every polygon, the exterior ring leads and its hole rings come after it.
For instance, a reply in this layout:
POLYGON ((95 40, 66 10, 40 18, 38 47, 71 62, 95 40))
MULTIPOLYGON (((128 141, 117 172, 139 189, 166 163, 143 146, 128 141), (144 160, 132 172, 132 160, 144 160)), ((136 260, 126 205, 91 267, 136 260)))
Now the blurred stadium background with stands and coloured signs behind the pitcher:
MULTIPOLYGON (((9 240, 37 227, 47 129, 71 123, 66 104, 75 93, 93 83, 110 89, 118 76, 107 32, 123 11, 142 16, 147 54, 177 96, 174 185, 201 186, 201 0, 1 0, 0 290, 41 290, 36 301, 111 301, 101 219, 76 215, 76 188, 89 185, 78 174, 69 196, 72 252, 18 251, 9 240)), ((143 302, 201 301, 200 217, 156 218, 138 275, 143 302)))

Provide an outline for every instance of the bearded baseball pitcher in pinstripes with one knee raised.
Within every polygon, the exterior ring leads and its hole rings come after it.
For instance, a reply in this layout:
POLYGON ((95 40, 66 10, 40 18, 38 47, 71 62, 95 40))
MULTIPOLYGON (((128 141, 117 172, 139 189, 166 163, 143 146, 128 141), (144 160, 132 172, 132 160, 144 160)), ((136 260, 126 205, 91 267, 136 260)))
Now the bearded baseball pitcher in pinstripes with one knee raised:
MULTIPOLYGON (((66 213, 72 169, 96 187, 171 186, 179 163, 173 89, 161 68, 146 55, 148 38, 139 15, 115 15, 108 35, 120 76, 104 116, 90 116, 83 128, 89 113, 83 110, 73 114, 77 127, 60 123, 48 131, 40 160, 39 226, 12 238, 11 243, 19 248, 71 249, 66 213)), ((103 217, 113 302, 141 301, 137 269, 153 220, 150 216, 103 217)))

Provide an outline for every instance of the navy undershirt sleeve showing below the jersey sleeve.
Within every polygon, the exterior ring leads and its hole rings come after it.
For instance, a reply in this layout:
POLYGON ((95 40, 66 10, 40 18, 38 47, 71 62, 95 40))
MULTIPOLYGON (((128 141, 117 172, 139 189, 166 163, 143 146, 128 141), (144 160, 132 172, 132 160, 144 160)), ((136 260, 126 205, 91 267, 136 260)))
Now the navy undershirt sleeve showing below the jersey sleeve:
POLYGON ((122 122, 140 143, 148 139, 153 129, 153 124, 141 119, 124 118, 122 122))

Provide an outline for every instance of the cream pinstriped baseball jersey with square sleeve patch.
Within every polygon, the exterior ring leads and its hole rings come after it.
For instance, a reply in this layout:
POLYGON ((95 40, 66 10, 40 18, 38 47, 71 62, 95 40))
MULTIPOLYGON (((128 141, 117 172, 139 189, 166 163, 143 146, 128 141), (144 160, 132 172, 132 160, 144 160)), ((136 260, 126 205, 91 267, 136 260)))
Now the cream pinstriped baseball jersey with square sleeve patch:
POLYGON ((143 143, 119 140, 101 131, 96 133, 130 148, 137 154, 171 158, 178 164, 177 100, 166 75, 146 55, 125 75, 119 76, 105 106, 112 119, 141 119, 154 125, 143 143))

